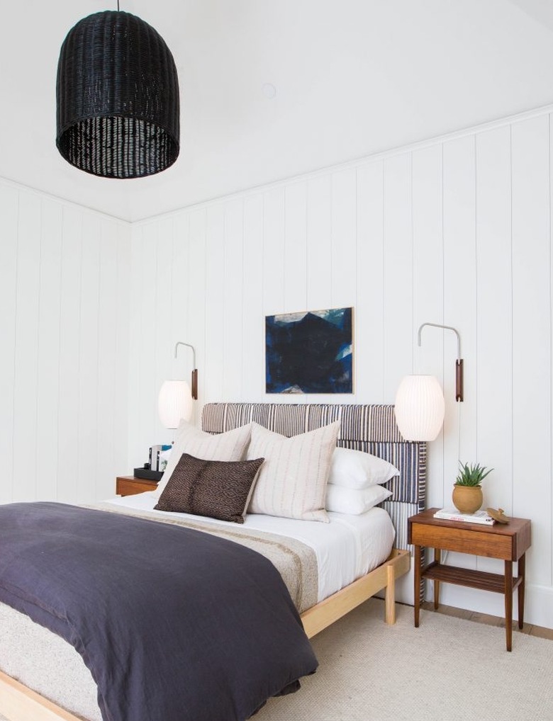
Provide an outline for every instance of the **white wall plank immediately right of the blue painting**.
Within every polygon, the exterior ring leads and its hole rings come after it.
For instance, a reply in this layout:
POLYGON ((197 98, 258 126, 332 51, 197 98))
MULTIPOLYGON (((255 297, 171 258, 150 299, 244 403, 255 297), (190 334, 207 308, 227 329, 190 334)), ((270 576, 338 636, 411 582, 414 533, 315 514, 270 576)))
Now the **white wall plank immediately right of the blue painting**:
POLYGON ((357 169, 355 392, 360 403, 384 402, 383 162, 357 169))

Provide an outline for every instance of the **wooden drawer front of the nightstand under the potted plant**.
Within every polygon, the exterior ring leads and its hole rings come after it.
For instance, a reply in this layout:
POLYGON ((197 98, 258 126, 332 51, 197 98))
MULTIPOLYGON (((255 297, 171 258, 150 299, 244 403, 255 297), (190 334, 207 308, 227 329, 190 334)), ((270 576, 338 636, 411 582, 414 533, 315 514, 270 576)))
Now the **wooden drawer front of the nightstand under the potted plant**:
POLYGON ((440 528, 414 523, 411 528, 412 543, 417 546, 439 548, 444 551, 471 553, 476 556, 513 559, 513 539, 511 536, 475 531, 471 528, 440 528))

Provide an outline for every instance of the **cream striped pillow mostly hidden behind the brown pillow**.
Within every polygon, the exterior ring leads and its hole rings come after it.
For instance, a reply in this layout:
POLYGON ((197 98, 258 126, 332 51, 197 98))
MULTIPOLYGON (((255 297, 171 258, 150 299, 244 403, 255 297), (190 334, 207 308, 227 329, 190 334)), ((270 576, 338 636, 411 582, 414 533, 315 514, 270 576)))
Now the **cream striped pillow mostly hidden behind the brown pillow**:
POLYGON ((204 461, 243 461, 250 442, 250 435, 251 423, 227 430, 226 433, 213 435, 199 430, 195 425, 186 423, 186 420, 181 420, 173 451, 167 461, 162 479, 157 484, 157 490, 154 491, 155 495, 160 497, 183 453, 204 461))

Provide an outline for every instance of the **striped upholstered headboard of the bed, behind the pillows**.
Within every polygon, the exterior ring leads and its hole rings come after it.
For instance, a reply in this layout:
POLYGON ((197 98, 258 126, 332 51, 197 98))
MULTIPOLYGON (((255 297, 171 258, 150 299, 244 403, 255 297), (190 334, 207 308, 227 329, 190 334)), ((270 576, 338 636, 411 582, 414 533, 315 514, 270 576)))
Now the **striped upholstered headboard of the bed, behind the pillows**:
POLYGON ((386 486, 391 497, 380 505, 396 528, 396 547, 408 547, 407 518, 424 510, 426 444, 404 441, 393 405, 208 403, 201 427, 209 433, 224 433, 252 420, 287 436, 340 420, 339 446, 380 456, 399 469, 399 477, 386 486))

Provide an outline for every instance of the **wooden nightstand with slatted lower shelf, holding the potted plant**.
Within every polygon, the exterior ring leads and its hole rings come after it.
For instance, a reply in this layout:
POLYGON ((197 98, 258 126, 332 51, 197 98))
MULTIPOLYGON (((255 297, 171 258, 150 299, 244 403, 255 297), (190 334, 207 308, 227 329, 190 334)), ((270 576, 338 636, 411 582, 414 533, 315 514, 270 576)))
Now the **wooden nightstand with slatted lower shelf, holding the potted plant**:
POLYGON ((526 551, 531 544, 531 521, 510 518, 509 523, 442 521, 434 518, 437 508, 429 508, 407 519, 408 541, 414 545, 414 624, 419 625, 421 578, 434 581, 434 608, 440 604, 440 581, 491 590, 505 596, 505 637, 507 650, 513 640, 513 590, 518 588, 518 627, 524 623, 524 577, 526 551), (421 546, 434 549, 434 561, 421 567, 421 546), (505 575, 443 565, 440 550, 468 553, 473 556, 500 558, 505 561, 505 575), (518 576, 513 579, 513 561, 518 561, 518 576))

